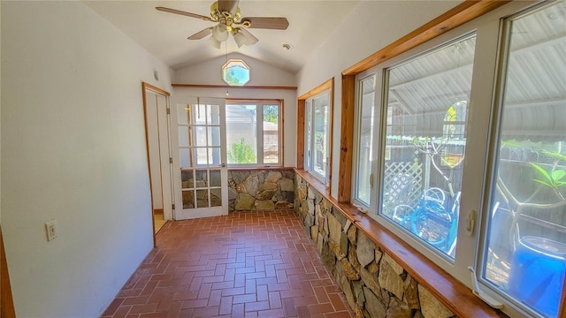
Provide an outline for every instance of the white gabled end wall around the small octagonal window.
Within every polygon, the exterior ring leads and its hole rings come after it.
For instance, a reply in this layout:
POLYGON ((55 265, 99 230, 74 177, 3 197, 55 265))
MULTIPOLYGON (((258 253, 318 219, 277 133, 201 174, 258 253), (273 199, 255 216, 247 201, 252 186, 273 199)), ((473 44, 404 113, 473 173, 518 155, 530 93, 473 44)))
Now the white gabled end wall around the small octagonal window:
MULTIPOLYGON (((282 71, 269 64, 264 64, 252 57, 245 57, 238 53, 229 54, 228 58, 239 58, 250 68, 250 80, 247 85, 258 86, 296 86, 295 75, 282 71)), ((226 85, 222 80, 222 65, 226 64, 226 57, 213 58, 202 64, 196 64, 177 70, 174 75, 175 84, 203 84, 226 85)), ((296 167, 296 121, 297 121, 297 94, 295 90, 284 89, 247 89, 230 88, 229 98, 234 99, 283 99, 283 130, 284 130, 284 163, 286 167, 296 167)), ((226 98, 226 89, 221 88, 187 88, 175 87, 171 96, 171 107, 177 102, 187 102, 191 96, 226 98)))

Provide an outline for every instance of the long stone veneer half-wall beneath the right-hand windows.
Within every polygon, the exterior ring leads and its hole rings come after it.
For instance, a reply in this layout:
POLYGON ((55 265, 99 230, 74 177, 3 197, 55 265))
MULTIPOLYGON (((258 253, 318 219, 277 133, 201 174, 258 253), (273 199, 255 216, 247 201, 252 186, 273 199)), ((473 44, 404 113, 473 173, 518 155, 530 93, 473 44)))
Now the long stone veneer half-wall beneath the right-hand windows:
POLYGON ((294 212, 332 269, 356 317, 454 317, 298 174, 294 189, 294 212))

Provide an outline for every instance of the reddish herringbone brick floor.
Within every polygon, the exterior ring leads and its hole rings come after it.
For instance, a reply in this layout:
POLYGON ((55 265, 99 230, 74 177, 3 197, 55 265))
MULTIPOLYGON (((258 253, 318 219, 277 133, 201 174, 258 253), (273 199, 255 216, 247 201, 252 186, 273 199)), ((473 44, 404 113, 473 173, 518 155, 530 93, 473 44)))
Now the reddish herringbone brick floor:
POLYGON ((354 317, 292 210, 168 222, 103 317, 354 317))

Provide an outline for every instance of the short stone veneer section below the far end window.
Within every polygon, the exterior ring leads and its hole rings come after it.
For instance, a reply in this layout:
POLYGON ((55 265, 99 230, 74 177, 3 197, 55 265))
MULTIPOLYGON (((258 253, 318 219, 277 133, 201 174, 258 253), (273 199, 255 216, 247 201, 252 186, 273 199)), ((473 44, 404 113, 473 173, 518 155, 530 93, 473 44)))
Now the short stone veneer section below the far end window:
POLYGON ((228 209, 293 208, 294 170, 228 170, 228 209))

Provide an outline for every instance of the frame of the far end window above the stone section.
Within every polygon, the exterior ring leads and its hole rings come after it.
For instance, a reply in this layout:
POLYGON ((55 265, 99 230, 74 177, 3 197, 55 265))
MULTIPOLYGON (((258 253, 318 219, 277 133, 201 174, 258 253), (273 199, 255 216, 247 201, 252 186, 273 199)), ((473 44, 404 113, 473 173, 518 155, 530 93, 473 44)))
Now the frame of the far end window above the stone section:
MULTIPOLYGON (((269 167, 282 167, 283 166, 283 100, 279 99, 226 99, 226 110, 228 106, 233 105, 256 105, 256 163, 227 163, 228 168, 269 168, 269 167), (278 106, 278 162, 277 163, 264 163, 264 125, 263 115, 264 106, 278 106), (262 125, 259 125, 262 123, 262 125)), ((227 123, 226 111, 226 125, 227 123)), ((229 133, 226 129, 226 133, 229 133)), ((230 145, 226 142, 226 147, 230 145)))

